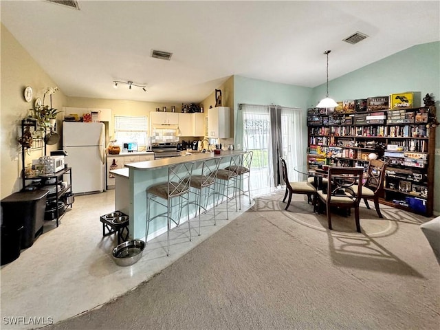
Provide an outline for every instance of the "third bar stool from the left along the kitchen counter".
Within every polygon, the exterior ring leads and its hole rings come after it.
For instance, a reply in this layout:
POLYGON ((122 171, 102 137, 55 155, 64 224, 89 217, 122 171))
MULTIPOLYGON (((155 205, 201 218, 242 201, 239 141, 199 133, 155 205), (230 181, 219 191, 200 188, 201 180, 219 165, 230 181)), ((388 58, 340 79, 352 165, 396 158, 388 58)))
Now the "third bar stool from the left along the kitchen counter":
MULTIPOLYGON (((222 191, 218 191, 217 194, 219 195, 219 198, 217 199, 217 205, 219 204, 220 196, 226 197, 226 220, 229 220, 229 212, 228 212, 228 200, 229 200, 229 189, 233 188, 234 190, 234 196, 235 197, 235 210, 237 211, 238 208, 236 206, 236 190, 238 186, 238 177, 239 177, 239 168, 243 162, 243 155, 233 155, 231 156, 230 163, 228 168, 231 168, 230 170, 227 170, 225 168, 219 169, 217 171, 217 182, 221 186, 222 191), (230 186, 230 184, 233 184, 233 186, 230 186)), ((223 198, 222 198, 223 200, 223 198)))

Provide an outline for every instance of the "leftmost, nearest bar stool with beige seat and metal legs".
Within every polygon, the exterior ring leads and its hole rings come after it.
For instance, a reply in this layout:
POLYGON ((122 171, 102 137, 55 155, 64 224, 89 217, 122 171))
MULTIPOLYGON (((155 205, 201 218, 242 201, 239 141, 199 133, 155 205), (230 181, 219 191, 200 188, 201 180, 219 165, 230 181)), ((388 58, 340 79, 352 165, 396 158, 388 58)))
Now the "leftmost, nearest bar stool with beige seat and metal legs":
POLYGON ((190 233, 190 241, 192 241, 191 237, 191 225, 190 225, 190 212, 189 212, 189 191, 190 191, 190 181, 192 174, 192 167, 194 166, 194 162, 185 162, 182 164, 176 164, 170 166, 168 168, 168 180, 161 184, 154 184, 146 189, 146 229, 145 229, 145 241, 148 238, 148 229, 150 227, 150 222, 156 219, 157 217, 166 217, 166 225, 167 225, 167 252, 166 255, 170 255, 170 230, 171 230, 171 222, 175 223, 175 227, 179 226, 180 218, 181 218, 181 210, 186 206, 187 212, 187 221, 188 221, 188 230, 190 233), (173 207, 173 199, 176 197, 179 198, 179 212, 177 219, 173 219, 172 217, 172 207, 173 207), (164 202, 166 201, 166 203, 164 202), (185 201, 185 205, 184 205, 185 201), (154 217, 150 216, 151 213, 151 203, 155 202, 160 204, 161 206, 166 207, 166 212, 155 215, 154 217))

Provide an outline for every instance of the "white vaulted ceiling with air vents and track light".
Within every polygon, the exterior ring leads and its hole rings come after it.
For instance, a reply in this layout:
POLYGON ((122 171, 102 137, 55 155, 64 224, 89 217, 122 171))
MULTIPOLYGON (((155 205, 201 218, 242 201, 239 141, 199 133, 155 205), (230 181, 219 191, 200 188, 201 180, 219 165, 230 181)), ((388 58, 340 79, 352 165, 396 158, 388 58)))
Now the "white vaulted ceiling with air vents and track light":
POLYGON ((305 87, 440 40, 440 1, 1 1, 1 22, 67 96, 200 102, 236 74, 305 87), (342 39, 369 35, 356 45, 342 39), (170 61, 152 50, 172 52, 170 61), (113 88, 132 80, 147 91, 113 88))

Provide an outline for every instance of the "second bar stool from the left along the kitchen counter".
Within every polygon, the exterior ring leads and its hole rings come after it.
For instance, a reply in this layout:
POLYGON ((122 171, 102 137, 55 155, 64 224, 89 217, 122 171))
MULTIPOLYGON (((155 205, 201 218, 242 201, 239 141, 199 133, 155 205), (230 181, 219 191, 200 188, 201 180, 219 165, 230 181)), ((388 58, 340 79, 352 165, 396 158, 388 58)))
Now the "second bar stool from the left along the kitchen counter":
MULTIPOLYGON (((216 225, 215 220, 215 178, 217 177, 217 172, 219 170, 220 158, 207 159, 201 165, 201 174, 192 175, 190 186, 194 188, 192 192, 195 194, 195 205, 198 206, 199 211, 199 236, 200 236, 200 214, 201 208, 204 212, 208 212, 209 197, 212 196, 212 212, 214 212, 214 225, 216 225), (204 188, 204 201, 203 206, 201 205, 201 195, 204 188)), ((197 214, 197 210, 196 210, 197 214)))

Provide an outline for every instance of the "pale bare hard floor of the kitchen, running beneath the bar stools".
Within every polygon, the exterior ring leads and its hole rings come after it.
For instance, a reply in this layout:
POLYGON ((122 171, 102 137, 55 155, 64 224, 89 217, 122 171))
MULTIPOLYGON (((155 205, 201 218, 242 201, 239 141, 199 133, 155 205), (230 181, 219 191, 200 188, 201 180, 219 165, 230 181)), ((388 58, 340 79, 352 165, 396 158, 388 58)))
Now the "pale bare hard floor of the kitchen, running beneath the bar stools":
POLYGON ((54 221, 45 222, 34 245, 1 267, 1 329, 43 327, 99 307, 147 281, 250 208, 248 196, 242 196, 241 210, 229 203, 226 220, 222 203, 216 208, 217 225, 212 212, 202 215, 201 236, 197 218, 191 221, 191 242, 186 223, 171 233, 170 256, 162 234, 148 241, 140 261, 120 267, 111 259, 117 239, 114 234, 103 237, 99 221, 114 211, 114 195, 107 190, 76 196, 58 228, 54 221))

